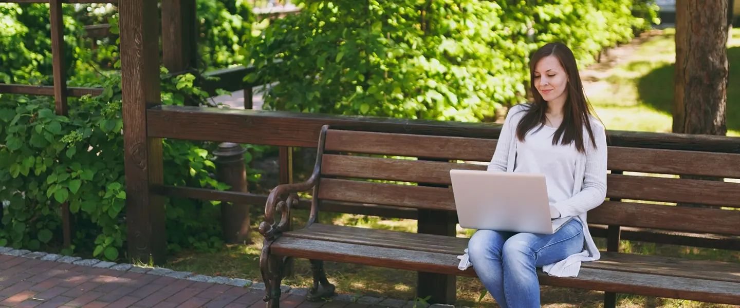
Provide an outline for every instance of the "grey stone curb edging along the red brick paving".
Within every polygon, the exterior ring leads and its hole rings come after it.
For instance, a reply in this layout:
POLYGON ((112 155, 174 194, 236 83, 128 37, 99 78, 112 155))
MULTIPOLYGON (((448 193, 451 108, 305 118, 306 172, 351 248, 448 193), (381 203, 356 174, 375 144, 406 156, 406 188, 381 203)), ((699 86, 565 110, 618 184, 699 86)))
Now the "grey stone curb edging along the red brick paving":
MULTIPOLYGON (((55 253, 44 253, 44 252, 32 252, 30 250, 18 250, 11 247, 1 247, 0 254, 7 256, 18 256, 28 259, 39 259, 41 261, 55 261, 60 263, 75 264, 87 267, 98 267, 107 268, 110 270, 119 270, 122 272, 132 273, 147 273, 157 276, 166 276, 176 279, 186 279, 190 281, 207 282, 211 284, 226 284, 234 287, 245 287, 252 290, 265 290, 265 284, 262 282, 252 282, 241 278, 228 278, 223 276, 205 276, 205 275, 194 275, 190 272, 180 272, 175 270, 169 270, 164 267, 139 267, 133 264, 127 263, 115 263, 110 261, 101 261, 98 259, 82 259, 76 256, 61 256, 55 253)), ((280 286, 280 290, 283 293, 290 295, 306 296, 308 294, 308 288, 294 288, 286 285, 280 286)), ((346 301, 346 302, 357 302, 358 304, 371 304, 380 305, 384 307, 393 308, 454 308, 452 305, 442 304, 423 304, 421 302, 415 303, 414 301, 405 301, 393 298, 379 298, 374 296, 359 296, 340 293, 334 296, 331 301, 346 301)))

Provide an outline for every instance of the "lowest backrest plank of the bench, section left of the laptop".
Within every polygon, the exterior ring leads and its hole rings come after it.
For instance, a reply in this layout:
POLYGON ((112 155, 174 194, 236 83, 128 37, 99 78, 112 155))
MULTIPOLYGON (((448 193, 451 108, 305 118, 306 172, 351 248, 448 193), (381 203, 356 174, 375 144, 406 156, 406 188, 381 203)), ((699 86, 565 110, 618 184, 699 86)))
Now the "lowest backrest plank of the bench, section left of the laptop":
POLYGON ((328 178, 320 180, 319 188, 319 199, 455 211, 451 188, 328 178))

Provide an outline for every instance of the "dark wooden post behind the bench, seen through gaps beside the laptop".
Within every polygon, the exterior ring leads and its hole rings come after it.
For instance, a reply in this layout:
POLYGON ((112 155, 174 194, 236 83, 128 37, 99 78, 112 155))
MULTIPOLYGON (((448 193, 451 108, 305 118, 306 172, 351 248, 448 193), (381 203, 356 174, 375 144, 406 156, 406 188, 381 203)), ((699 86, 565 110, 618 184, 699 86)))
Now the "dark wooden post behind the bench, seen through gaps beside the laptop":
MULTIPOLYGON (((419 157, 419 160, 431 160, 419 157)), ((440 160, 436 160, 440 161, 440 160)), ((441 160, 447 161, 447 160, 441 160)), ((446 185, 432 185, 419 183, 419 186, 448 187, 446 185)), ((457 214, 450 211, 419 210, 417 233, 455 236, 457 214)), ((429 304, 452 305, 457 300, 457 277, 437 273, 417 273, 417 296, 425 298, 429 304)))

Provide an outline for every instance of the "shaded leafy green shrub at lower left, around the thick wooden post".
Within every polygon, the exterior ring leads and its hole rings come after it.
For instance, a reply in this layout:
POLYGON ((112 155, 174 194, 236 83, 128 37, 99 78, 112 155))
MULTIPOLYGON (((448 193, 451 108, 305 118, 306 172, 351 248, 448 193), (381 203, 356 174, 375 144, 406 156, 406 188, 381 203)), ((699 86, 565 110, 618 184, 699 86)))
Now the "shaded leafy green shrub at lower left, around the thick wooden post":
MULTIPOLYGON (((166 72, 163 72, 163 75, 166 72)), ((126 241, 121 76, 88 75, 105 91, 70 100, 68 117, 55 114, 53 98, 0 95, 0 200, 10 201, 0 239, 12 247, 55 249, 61 242, 61 204, 77 221, 74 247, 115 260, 126 241), (100 84, 102 83, 102 84, 100 84)), ((163 78, 163 103, 203 99, 193 75, 163 78)), ((211 143, 164 140, 167 185, 226 189, 212 174, 211 143)), ((222 244, 217 202, 172 199, 166 203, 171 249, 211 249, 222 244)), ((72 253, 72 250, 63 253, 72 253)))

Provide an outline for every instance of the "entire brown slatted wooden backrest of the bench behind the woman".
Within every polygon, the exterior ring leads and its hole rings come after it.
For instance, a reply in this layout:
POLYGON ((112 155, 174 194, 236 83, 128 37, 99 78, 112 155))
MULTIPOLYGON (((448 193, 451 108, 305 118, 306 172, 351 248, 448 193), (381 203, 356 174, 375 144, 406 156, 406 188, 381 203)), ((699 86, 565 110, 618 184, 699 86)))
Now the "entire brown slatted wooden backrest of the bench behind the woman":
MULTIPOLYGON (((496 143, 329 129, 317 197, 455 211, 449 171, 485 170, 496 143)), ((723 208, 740 208, 740 183, 723 181, 740 179, 740 154, 610 146, 608 168, 625 174, 608 174, 607 197, 612 201, 590 211, 589 223, 740 236, 740 211, 723 208), (670 176, 675 174, 719 180, 670 176), (710 207, 673 206, 676 203, 710 207)))

